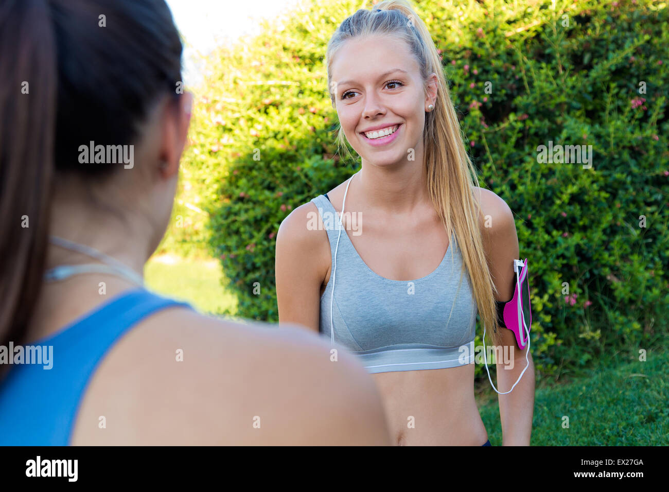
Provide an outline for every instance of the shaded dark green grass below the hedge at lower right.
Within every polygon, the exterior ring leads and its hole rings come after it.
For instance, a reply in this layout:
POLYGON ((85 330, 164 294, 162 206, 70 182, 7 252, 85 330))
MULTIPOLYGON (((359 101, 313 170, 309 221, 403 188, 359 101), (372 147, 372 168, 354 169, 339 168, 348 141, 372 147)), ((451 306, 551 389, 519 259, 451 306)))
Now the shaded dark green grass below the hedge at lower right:
MULTIPOLYGON (((668 445, 667 363, 668 349, 650 349, 647 361, 595 367, 586 378, 537 389, 531 445, 668 445), (563 428, 565 417, 569 418, 569 428, 563 428)), ((483 404, 480 414, 490 443, 500 446, 497 400, 483 404)))

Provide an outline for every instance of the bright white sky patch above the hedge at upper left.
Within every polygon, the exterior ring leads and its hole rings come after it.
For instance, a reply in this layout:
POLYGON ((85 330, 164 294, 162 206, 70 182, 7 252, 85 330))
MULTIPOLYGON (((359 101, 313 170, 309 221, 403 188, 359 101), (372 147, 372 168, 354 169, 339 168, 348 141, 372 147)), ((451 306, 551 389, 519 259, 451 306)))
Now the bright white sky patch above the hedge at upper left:
POLYGON ((183 78, 186 85, 201 80, 194 54, 207 54, 246 33, 260 33, 258 19, 274 17, 300 0, 166 0, 185 38, 183 78))

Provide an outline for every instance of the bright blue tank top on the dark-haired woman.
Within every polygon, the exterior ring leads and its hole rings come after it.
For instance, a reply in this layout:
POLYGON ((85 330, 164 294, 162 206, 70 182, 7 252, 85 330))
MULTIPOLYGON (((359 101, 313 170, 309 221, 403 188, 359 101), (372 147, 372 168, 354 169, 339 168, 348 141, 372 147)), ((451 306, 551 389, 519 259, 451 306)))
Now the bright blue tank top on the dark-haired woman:
POLYGON ((139 321, 173 306, 190 307, 146 289, 133 289, 58 333, 27 344, 52 346, 52 367, 12 365, 0 381, 0 445, 69 445, 80 401, 100 361, 139 321))

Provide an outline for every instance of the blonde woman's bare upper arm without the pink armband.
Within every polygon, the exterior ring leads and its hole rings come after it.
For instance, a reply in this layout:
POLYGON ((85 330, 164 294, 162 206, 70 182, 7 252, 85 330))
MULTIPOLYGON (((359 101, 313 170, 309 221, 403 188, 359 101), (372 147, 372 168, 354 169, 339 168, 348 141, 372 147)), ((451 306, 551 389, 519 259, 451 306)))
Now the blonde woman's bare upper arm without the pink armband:
POLYGON ((320 286, 328 265, 329 242, 318 208, 305 203, 284 219, 276 235, 276 301, 280 323, 297 323, 318 331, 320 286), (325 236, 325 239, 324 237, 325 236), (328 252, 324 252, 324 246, 328 252), (326 256, 327 255, 327 256, 326 256))

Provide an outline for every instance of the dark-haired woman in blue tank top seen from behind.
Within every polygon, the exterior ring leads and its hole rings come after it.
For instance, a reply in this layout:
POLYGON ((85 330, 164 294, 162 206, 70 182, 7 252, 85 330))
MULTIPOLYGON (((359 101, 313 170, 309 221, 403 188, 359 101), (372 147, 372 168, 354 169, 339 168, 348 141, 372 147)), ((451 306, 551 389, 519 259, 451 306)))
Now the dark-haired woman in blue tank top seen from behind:
POLYGON ((350 355, 143 287, 181 50, 163 0, 0 3, 0 444, 387 444, 350 355))

